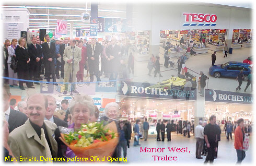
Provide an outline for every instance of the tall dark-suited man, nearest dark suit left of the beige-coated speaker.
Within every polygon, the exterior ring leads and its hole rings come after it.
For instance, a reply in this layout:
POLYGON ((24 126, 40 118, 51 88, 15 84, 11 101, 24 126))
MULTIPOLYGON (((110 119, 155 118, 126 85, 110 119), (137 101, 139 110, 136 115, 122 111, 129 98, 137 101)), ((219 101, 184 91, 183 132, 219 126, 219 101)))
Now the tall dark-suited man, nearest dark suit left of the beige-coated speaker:
POLYGON ((54 66, 54 58, 56 58, 56 46, 55 43, 50 41, 49 34, 45 34, 44 38, 46 42, 42 44, 42 52, 45 67, 45 77, 46 80, 50 82, 50 75, 52 75, 52 81, 56 82, 54 66))

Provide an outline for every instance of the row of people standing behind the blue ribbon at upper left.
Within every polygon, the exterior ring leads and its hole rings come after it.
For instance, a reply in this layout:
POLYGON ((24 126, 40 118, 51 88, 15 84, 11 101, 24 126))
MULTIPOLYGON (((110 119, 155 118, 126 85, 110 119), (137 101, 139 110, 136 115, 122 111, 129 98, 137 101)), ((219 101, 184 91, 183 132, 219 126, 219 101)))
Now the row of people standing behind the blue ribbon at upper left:
MULTIPOLYGON (((100 75, 104 74, 109 80, 117 79, 118 75, 126 77, 126 70, 134 73, 134 58, 130 53, 127 56, 127 45, 120 45, 116 38, 111 41, 97 42, 92 38, 90 44, 87 40, 75 40, 64 38, 64 40, 50 39, 49 34, 44 36, 46 42, 41 44, 37 37, 31 38, 31 44, 27 45, 25 38, 5 41, 4 45, 4 76, 9 77, 8 84, 18 86, 16 79, 19 80, 19 87, 25 90, 23 83, 28 88, 34 88, 33 84, 39 84, 42 80, 41 73, 45 75, 46 81, 56 84, 56 78, 64 78, 64 82, 84 81, 84 69, 90 73, 90 81, 101 81, 100 75), (18 42, 18 45, 17 45, 18 42), (86 42, 86 43, 85 43, 86 42), (11 68, 11 60, 15 59, 17 68, 11 68), (126 59, 128 61, 125 66, 126 59), (101 62, 101 70, 99 63, 101 62), (43 69, 41 68, 43 64, 43 69), (60 74, 61 73, 61 74, 60 74), (24 80, 31 80, 30 82, 24 80)), ((124 42, 125 43, 125 42, 124 42)), ((64 92, 66 93, 66 91, 64 92)))

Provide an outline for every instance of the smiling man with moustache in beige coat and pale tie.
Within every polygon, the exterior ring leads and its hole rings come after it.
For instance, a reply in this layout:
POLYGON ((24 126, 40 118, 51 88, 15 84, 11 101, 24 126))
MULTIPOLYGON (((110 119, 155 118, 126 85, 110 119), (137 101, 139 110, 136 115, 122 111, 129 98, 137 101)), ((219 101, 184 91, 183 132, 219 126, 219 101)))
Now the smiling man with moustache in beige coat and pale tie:
MULTIPOLYGON (((8 145, 16 158, 57 157, 57 142, 53 138, 56 124, 44 121, 48 100, 42 94, 33 94, 27 100, 29 119, 9 134, 8 145)), ((19 160, 18 160, 19 161, 19 160)))

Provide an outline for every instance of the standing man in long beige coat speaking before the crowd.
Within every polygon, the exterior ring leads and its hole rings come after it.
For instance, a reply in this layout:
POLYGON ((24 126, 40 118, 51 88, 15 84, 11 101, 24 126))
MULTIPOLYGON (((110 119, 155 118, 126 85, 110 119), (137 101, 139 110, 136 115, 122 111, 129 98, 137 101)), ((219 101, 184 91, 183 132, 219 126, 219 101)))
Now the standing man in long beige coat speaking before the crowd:
MULTIPOLYGON (((64 82, 68 82, 71 80, 69 77, 72 75, 72 81, 76 82, 76 73, 79 70, 79 62, 82 60, 82 49, 80 49, 78 46, 75 45, 76 40, 72 39, 69 43, 69 46, 67 46, 63 53, 63 61, 65 62, 64 65, 64 82)), ((63 94, 67 94, 67 86, 66 90, 63 92, 63 94)), ((72 87, 75 86, 75 84, 72 84, 72 87)), ((75 87, 72 88, 74 93, 78 93, 75 90, 75 87)))

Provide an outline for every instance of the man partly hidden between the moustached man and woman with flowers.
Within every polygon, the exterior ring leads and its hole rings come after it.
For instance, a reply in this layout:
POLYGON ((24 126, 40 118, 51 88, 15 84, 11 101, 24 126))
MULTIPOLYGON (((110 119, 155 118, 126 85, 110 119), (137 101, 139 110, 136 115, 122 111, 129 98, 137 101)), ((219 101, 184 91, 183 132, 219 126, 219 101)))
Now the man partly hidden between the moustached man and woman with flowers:
POLYGON ((64 122, 64 121, 60 120, 59 118, 53 116, 54 111, 56 110, 56 100, 55 100, 55 98, 50 96, 50 95, 48 95, 46 97, 48 99, 48 110, 45 113, 44 120, 51 121, 51 122, 55 123, 58 127, 59 126, 67 127, 66 122, 64 122))

